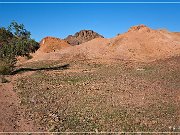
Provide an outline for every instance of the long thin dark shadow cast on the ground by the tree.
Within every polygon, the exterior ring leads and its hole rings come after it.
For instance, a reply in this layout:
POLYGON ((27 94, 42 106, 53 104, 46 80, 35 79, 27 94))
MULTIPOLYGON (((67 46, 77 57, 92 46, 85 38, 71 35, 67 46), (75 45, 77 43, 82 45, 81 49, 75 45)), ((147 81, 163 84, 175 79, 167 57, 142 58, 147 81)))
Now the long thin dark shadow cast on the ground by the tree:
POLYGON ((13 71, 11 73, 11 75, 15 75, 15 74, 18 74, 18 73, 22 73, 22 72, 27 72, 27 71, 40 71, 40 70, 47 70, 47 71, 50 71, 50 70, 65 70, 65 69, 68 69, 69 68, 69 64, 65 64, 65 65, 62 65, 62 66, 57 66, 57 67, 48 67, 48 68, 19 68, 15 71, 13 71))

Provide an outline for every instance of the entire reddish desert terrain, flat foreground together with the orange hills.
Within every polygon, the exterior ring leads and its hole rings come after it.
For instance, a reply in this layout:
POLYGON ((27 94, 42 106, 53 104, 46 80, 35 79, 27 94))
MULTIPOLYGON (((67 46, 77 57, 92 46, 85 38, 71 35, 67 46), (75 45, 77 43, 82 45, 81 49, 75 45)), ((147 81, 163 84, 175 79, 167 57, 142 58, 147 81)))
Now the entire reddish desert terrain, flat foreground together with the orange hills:
POLYGON ((77 39, 19 58, 0 83, 0 132, 180 132, 178 32, 77 39))

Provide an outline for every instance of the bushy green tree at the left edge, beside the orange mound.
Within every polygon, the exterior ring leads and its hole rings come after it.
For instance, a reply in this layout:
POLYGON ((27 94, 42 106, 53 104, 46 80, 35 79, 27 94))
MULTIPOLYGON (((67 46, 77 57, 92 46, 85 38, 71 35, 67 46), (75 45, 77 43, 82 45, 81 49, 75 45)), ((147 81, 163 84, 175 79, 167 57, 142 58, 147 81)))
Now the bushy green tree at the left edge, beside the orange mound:
POLYGON ((0 28, 0 73, 9 74, 16 64, 17 56, 27 56, 39 48, 39 43, 30 38, 31 33, 23 24, 12 22, 5 29, 0 28))

